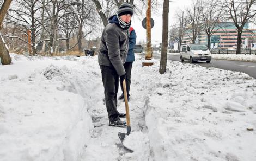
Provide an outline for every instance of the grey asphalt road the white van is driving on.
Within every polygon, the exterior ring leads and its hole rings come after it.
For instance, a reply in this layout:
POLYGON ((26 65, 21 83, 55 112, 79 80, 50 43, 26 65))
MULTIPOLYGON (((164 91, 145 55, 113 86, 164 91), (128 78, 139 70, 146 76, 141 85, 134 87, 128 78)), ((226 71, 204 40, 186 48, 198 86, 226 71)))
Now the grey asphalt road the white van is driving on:
MULTIPOLYGON (((160 54, 153 54, 154 59, 160 59, 160 54)), ((180 61, 178 55, 168 55, 168 60, 172 61, 180 61)), ((190 63, 188 61, 184 61, 183 63, 190 63)), ((206 63, 205 61, 196 62, 196 64, 202 67, 215 67, 225 70, 238 71, 248 74, 253 78, 256 78, 256 63, 254 62, 243 62, 243 61, 231 61, 231 60, 217 60, 212 59, 210 63, 206 63)))

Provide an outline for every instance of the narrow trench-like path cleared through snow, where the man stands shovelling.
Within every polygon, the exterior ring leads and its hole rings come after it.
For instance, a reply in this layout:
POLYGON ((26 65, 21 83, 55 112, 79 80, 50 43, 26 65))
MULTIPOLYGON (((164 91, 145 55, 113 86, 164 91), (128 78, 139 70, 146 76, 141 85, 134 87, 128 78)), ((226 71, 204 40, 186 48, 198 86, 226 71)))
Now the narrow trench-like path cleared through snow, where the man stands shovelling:
MULTIPOLYGON (((135 144, 132 140, 132 150, 135 152, 130 153, 129 150, 126 150, 121 144, 120 139, 118 138, 118 132, 126 133, 126 127, 112 127, 108 126, 108 118, 106 106, 103 105, 102 99, 103 96, 103 84, 100 81, 96 81, 97 88, 94 91, 97 93, 97 97, 92 101, 92 108, 88 112, 92 115, 92 120, 94 124, 94 130, 92 134, 92 139, 90 139, 89 144, 87 144, 84 149, 82 160, 149 160, 150 150, 149 150, 149 141, 147 139, 147 130, 145 128, 145 100, 147 100, 147 91, 144 91, 141 88, 141 83, 137 82, 135 73, 138 72, 136 68, 141 66, 139 63, 133 65, 132 70, 132 85, 130 91, 130 120, 131 120, 131 135, 136 133, 137 139, 145 138, 145 141, 138 140, 138 144, 135 144), (96 102, 96 104, 95 104, 96 102), (138 138, 138 135, 141 136, 138 138)), ((121 89, 119 86, 118 96, 121 94, 121 89)), ((118 111, 125 113, 125 103, 123 100, 118 100, 118 111)), ((126 120, 125 118, 122 120, 126 120)), ((126 143, 127 144, 127 143, 126 143)), ((129 145, 127 145, 129 147, 129 145)))

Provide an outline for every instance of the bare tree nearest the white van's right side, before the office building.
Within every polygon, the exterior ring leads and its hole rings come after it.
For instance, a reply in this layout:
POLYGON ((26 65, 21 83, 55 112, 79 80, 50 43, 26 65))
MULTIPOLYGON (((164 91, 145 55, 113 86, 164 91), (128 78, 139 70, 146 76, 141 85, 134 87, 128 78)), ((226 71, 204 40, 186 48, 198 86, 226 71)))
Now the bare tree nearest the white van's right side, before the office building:
POLYGON ((223 4, 215 0, 205 0, 201 2, 202 10, 202 30, 208 37, 208 48, 211 44, 211 35, 220 29, 218 25, 223 19, 223 4))

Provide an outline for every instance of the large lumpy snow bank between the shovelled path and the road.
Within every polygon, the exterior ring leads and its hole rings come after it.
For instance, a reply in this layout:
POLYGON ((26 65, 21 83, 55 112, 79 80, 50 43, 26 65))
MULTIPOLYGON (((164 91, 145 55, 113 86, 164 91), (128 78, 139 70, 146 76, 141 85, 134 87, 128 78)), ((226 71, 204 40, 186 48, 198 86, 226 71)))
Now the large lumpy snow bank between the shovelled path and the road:
MULTIPOLYGON (((136 70, 136 69, 135 69, 136 70)), ((254 160, 256 81, 247 74, 169 62, 139 69, 154 160, 254 160), (149 76, 154 75, 154 76, 149 76)), ((137 74, 138 73, 138 74, 137 74)))

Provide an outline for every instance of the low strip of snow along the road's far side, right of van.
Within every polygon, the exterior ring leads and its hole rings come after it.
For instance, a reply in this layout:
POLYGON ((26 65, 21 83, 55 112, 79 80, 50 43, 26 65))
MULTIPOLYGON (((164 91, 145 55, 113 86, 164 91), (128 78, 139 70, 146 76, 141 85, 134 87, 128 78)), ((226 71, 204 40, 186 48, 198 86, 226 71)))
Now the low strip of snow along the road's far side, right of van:
POLYGON ((212 59, 223 59, 223 60, 238 60, 238 61, 248 61, 256 62, 256 55, 252 54, 212 54, 212 59))

